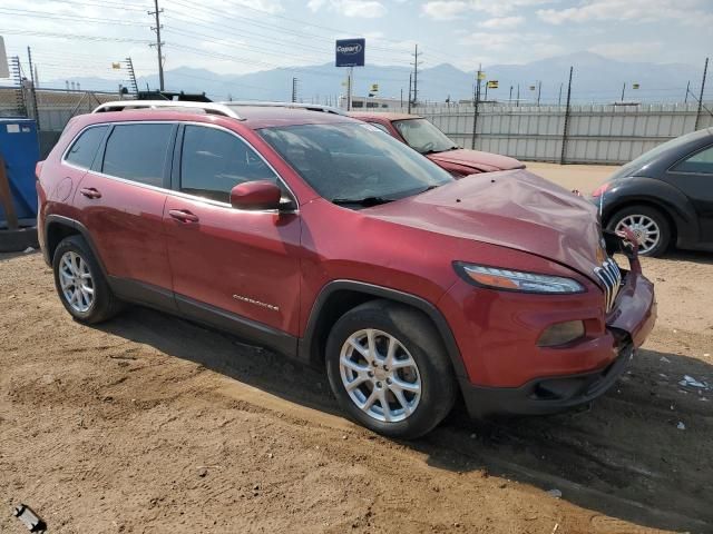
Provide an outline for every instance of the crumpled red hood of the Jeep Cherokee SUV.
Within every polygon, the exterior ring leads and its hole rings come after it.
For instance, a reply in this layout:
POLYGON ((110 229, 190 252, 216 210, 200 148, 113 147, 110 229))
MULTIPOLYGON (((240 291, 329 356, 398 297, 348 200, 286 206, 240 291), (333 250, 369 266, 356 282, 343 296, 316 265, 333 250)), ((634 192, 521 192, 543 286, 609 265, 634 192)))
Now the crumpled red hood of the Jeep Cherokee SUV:
POLYGON ((578 270, 594 281, 597 281, 594 268, 604 259, 596 208, 527 170, 468 176, 361 212, 535 254, 578 270))

